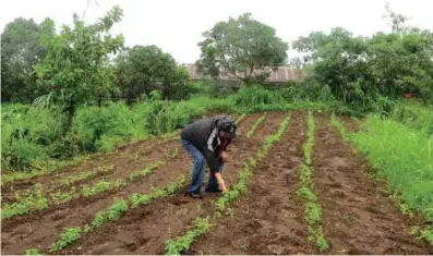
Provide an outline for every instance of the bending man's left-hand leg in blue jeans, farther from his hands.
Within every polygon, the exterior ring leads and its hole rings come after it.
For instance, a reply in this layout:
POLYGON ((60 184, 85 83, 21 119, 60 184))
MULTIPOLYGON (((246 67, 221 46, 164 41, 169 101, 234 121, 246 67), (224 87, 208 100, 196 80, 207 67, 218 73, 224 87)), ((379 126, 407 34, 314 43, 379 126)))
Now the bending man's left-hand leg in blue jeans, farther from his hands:
POLYGON ((182 139, 183 148, 190 154, 193 160, 191 185, 188 192, 199 194, 205 171, 205 158, 203 154, 196 149, 190 142, 182 139))

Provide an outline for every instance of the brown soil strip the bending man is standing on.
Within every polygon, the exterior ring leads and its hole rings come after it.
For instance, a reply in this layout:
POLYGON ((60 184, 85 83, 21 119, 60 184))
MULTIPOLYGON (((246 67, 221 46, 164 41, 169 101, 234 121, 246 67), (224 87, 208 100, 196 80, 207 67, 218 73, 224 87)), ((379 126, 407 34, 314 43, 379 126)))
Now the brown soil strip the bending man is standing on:
MULTIPOLYGON (((238 181, 238 170, 258 149, 266 135, 278 130, 284 117, 285 113, 269 113, 252 138, 239 136, 233 142, 229 153, 229 157, 232 158, 224 172, 229 185, 238 181)), ((244 127, 251 126, 252 124, 244 127)), ((191 160, 187 159, 185 162, 191 168, 191 160)), ((100 229, 89 232, 61 253, 164 254, 165 242, 172 235, 182 234, 196 217, 208 215, 216 198, 217 195, 205 194, 202 200, 196 200, 178 194, 155 200, 148 206, 130 210, 116 223, 106 223, 100 229)))

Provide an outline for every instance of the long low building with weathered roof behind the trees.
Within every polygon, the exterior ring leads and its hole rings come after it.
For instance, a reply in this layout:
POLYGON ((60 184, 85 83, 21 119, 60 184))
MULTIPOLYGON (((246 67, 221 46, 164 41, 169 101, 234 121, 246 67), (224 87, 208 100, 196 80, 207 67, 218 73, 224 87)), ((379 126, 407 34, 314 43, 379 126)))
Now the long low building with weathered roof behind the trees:
MULTIPOLYGON (((197 71, 197 66, 195 64, 188 64, 188 71, 190 73, 190 76, 192 80, 203 80, 203 78, 208 78, 209 76, 204 76, 203 74, 200 74, 197 71)), ((273 71, 273 70, 266 70, 270 72, 270 76, 268 78, 268 82, 270 83, 284 83, 284 82, 303 82, 304 81, 304 74, 302 71, 290 68, 290 66, 278 66, 278 70, 273 71)), ((258 73, 261 71, 254 71, 254 73, 258 73)), ((239 73, 239 76, 243 76, 243 74, 239 73)), ((238 78, 229 77, 226 75, 220 74, 218 80, 221 81, 239 81, 238 78)))

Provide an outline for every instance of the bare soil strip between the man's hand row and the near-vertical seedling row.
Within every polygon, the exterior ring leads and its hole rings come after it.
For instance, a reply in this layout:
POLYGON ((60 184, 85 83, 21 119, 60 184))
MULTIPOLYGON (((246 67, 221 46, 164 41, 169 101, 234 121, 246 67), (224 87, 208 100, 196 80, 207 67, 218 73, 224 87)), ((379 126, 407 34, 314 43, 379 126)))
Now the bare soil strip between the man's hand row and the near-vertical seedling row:
POLYGON ((256 168, 233 218, 218 220, 191 254, 314 254, 306 244, 298 166, 306 139, 305 112, 293 112, 286 133, 256 168))

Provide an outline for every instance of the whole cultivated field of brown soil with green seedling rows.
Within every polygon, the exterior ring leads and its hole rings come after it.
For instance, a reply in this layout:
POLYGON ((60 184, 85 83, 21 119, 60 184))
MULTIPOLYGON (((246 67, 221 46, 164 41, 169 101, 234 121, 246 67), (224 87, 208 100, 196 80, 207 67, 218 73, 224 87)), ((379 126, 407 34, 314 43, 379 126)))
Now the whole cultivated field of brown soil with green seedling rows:
POLYGON ((3 183, 1 253, 433 253, 410 235, 421 217, 401 212, 330 114, 236 118, 225 195, 183 195, 191 159, 177 134, 141 141, 3 183))

